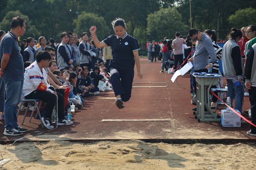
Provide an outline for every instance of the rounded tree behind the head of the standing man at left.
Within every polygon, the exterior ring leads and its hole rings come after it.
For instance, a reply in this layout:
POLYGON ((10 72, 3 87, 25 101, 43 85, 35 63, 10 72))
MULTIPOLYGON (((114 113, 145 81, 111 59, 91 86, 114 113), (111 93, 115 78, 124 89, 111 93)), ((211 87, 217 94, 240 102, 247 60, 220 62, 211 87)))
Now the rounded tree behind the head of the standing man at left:
POLYGON ((27 27, 26 32, 24 34, 24 37, 38 37, 40 35, 40 32, 35 28, 35 26, 31 25, 31 21, 29 20, 29 17, 27 15, 24 15, 23 13, 19 11, 9 11, 2 22, 0 23, 0 27, 2 30, 8 31, 10 30, 10 22, 13 17, 20 16, 27 21, 27 27))

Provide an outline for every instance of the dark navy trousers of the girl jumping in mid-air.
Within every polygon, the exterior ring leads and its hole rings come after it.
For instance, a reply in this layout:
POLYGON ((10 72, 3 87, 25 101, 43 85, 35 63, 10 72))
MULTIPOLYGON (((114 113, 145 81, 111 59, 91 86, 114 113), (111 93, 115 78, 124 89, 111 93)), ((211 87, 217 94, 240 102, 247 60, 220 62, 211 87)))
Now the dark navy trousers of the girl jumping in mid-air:
POLYGON ((123 102, 127 102, 131 98, 133 88, 134 70, 117 70, 110 68, 111 79, 115 95, 121 95, 123 102))

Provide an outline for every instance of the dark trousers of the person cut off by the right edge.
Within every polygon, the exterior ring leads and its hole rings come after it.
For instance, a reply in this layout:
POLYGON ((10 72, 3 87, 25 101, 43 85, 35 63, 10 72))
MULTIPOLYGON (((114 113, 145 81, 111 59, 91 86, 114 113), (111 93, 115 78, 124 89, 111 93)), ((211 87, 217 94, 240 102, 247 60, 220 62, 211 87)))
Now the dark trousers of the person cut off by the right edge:
MULTIPOLYGON (((250 92, 251 123, 256 125, 256 87, 251 87, 250 92)), ((256 127, 251 125, 251 132, 256 134, 256 127)))

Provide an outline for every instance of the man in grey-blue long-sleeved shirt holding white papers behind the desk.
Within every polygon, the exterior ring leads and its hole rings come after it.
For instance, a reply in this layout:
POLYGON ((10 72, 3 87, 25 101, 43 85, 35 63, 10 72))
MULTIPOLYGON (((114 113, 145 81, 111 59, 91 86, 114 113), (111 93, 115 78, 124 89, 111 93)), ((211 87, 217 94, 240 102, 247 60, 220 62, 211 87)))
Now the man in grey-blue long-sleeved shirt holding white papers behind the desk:
MULTIPOLYGON (((208 69, 211 69, 214 63, 217 61, 217 55, 210 37, 197 29, 190 29, 189 36, 192 40, 197 40, 197 44, 194 56, 188 59, 188 61, 193 61, 195 72, 208 72, 208 69)), ((194 89, 197 90, 197 83, 194 77, 193 86, 194 89)), ((196 108, 193 110, 195 111, 196 108)))

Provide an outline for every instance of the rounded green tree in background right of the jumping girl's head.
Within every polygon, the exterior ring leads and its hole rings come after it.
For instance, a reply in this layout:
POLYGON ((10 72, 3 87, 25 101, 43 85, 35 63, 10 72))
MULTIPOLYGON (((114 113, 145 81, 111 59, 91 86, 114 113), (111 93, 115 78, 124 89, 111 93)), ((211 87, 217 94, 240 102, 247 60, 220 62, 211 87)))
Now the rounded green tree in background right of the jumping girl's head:
POLYGON ((160 9, 147 17, 147 35, 150 39, 175 37, 175 32, 187 30, 181 21, 181 14, 175 7, 160 9))

